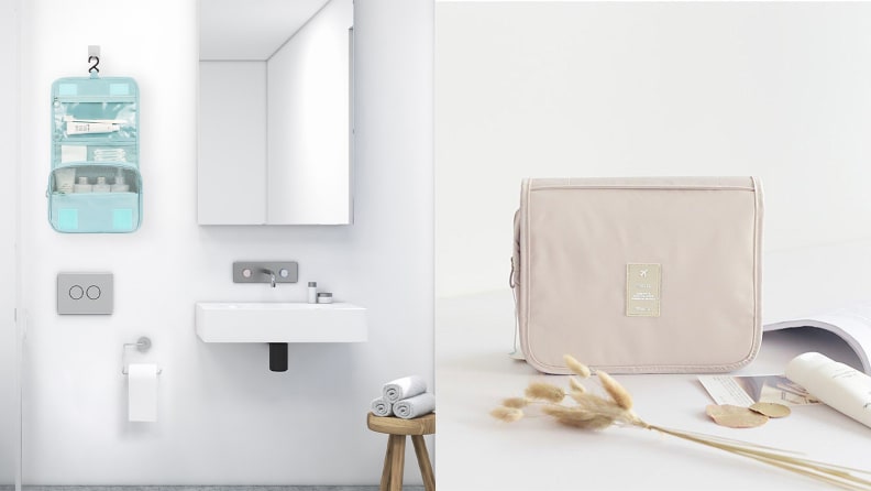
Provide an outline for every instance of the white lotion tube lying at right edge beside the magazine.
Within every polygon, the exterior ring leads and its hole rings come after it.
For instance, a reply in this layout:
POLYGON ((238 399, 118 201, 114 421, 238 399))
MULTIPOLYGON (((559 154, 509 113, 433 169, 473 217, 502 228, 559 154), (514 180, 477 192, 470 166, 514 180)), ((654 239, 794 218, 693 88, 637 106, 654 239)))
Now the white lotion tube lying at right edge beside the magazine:
POLYGON ((824 354, 800 354, 786 364, 786 378, 829 406, 871 427, 871 377, 824 354))

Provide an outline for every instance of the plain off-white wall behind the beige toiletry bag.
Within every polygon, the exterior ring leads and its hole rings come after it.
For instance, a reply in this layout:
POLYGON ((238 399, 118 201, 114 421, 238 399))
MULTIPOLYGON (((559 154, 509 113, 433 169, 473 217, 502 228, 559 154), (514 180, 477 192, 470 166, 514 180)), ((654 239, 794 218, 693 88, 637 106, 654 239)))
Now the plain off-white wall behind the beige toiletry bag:
POLYGON ((437 4, 437 293, 507 290, 523 177, 749 175, 767 251, 871 236, 871 4, 437 4))

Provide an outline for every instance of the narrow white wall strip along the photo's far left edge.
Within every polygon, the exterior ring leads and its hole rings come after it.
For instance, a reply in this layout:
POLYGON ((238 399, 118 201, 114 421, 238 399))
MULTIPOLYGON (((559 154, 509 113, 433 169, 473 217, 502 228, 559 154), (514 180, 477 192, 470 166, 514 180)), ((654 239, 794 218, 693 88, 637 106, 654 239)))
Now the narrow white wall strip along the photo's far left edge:
MULTIPOLYGON (((18 162, 18 28, 15 0, 0 0, 0 59, 8 64, 8 76, 0 77, 0 168, 9 183, 15 182, 18 162)), ((0 485, 15 482, 15 448, 18 446, 18 395, 15 394, 15 186, 0 193, 0 485)))

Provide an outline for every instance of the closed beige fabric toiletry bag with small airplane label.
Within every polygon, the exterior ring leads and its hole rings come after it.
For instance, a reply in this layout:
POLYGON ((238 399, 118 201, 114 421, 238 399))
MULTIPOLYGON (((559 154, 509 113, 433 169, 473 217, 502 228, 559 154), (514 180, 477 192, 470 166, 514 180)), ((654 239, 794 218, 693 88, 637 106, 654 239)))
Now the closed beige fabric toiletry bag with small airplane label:
POLYGON ((614 373, 726 372, 756 357, 756 177, 526 179, 511 285, 527 362, 614 373))

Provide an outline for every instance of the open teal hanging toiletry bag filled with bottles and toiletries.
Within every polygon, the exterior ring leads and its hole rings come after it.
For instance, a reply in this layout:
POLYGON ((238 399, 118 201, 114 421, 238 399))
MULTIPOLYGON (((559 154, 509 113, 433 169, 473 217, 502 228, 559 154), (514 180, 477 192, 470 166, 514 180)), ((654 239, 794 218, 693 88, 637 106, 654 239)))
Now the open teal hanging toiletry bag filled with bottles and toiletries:
POLYGON ((132 232, 142 221, 139 87, 128 77, 52 85, 48 221, 58 232, 132 232))

